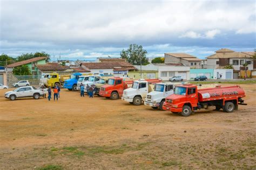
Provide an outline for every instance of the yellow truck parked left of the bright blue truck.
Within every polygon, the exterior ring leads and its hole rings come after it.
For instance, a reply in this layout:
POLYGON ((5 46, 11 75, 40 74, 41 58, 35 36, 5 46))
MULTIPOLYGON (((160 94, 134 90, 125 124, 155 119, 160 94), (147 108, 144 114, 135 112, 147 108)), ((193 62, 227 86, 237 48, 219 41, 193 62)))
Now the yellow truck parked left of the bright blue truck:
POLYGON ((47 79, 47 87, 63 86, 64 81, 70 79, 70 74, 59 75, 58 73, 50 73, 47 79))

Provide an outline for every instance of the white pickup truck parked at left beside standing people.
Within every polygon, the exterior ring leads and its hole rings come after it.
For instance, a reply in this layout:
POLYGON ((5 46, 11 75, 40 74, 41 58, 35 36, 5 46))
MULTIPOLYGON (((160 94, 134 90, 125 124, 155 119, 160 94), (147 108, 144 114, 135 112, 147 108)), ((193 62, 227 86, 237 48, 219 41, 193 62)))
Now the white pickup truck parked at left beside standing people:
POLYGON ((11 101, 14 101, 16 98, 21 97, 33 97, 39 99, 40 96, 44 95, 44 89, 37 89, 33 86, 19 87, 13 91, 7 91, 4 94, 5 98, 10 98, 11 101))

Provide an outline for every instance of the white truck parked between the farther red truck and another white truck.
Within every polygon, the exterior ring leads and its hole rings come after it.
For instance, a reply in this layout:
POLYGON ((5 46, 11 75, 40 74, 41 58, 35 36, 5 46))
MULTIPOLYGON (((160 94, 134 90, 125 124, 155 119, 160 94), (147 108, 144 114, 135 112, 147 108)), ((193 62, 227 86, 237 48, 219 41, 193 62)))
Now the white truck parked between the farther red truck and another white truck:
POLYGON ((154 85, 152 83, 154 82, 146 81, 145 79, 133 81, 132 87, 124 90, 122 100, 134 105, 142 104, 142 102, 145 100, 147 96, 147 93, 153 91, 154 89, 154 85))

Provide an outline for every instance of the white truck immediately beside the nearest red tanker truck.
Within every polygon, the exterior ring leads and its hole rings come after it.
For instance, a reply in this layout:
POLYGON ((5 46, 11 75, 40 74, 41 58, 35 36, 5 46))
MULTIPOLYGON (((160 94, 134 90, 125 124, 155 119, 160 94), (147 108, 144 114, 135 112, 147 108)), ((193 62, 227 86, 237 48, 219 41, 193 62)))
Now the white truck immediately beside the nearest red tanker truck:
POLYGON ((153 109, 160 108, 163 110, 163 104, 165 102, 165 98, 173 94, 174 87, 181 83, 173 83, 173 82, 162 82, 157 83, 154 91, 151 91, 147 94, 144 105, 150 106, 153 109))

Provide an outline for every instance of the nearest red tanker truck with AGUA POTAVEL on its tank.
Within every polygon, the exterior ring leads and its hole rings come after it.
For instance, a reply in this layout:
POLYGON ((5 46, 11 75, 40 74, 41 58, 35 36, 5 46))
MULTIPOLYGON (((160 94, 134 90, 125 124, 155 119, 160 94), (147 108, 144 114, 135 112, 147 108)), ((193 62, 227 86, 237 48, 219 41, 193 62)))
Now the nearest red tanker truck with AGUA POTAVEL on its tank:
POLYGON ((215 110, 226 112, 238 110, 238 104, 247 105, 242 100, 245 91, 240 86, 198 89, 193 84, 181 84, 175 87, 174 94, 166 97, 163 109, 174 114, 190 116, 194 110, 215 106, 215 110))

